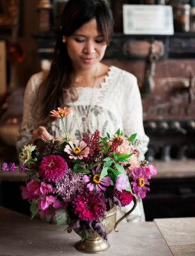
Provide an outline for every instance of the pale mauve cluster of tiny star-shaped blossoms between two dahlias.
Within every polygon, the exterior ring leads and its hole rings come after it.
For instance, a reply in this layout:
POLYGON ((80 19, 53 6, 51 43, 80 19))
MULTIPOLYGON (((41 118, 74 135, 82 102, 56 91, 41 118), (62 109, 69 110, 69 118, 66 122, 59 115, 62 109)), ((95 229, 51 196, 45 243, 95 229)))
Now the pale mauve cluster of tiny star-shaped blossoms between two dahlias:
POLYGON ((63 179, 56 181, 55 193, 65 202, 72 201, 77 193, 81 193, 86 188, 83 175, 68 169, 63 179))

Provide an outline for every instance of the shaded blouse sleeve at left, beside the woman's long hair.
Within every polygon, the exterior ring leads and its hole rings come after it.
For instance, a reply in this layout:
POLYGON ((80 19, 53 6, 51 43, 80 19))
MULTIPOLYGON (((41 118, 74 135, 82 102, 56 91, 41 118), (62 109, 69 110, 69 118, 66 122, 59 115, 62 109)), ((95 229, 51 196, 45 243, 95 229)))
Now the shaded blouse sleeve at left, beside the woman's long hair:
POLYGON ((16 139, 18 152, 26 145, 32 137, 32 132, 40 125, 40 120, 33 115, 33 102, 38 97, 38 88, 43 79, 43 72, 33 75, 26 86, 24 93, 23 117, 20 126, 19 136, 16 139))

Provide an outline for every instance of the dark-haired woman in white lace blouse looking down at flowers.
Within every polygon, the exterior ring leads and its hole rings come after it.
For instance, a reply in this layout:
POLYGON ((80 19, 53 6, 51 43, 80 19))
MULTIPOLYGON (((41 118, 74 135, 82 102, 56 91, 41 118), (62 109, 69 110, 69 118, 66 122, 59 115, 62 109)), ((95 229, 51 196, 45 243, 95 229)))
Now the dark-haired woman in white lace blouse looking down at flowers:
MULTIPOLYGON (((61 15, 54 60, 48 74, 35 74, 27 84, 24 115, 17 147, 36 139, 60 138, 63 127, 49 113, 57 107, 72 107, 66 130, 81 139, 84 132, 98 129, 102 136, 137 132, 142 144, 139 159, 147 150, 142 105, 136 77, 100 61, 111 40, 113 16, 104 0, 69 0, 61 15)), ((139 204, 131 221, 143 221, 139 204)))

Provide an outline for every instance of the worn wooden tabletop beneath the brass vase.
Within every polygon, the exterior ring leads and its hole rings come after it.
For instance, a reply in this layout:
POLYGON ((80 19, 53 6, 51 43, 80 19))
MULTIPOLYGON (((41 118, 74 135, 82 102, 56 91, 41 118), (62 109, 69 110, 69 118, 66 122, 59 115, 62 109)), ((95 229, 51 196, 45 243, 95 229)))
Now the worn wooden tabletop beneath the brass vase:
MULTIPOLYGON (((195 218, 179 218, 120 223, 119 232, 109 234, 111 248, 102 255, 194 256, 194 221, 195 218)), ((0 255, 84 255, 74 248, 79 236, 64 229, 45 221, 29 220, 26 215, 0 206, 0 255)))

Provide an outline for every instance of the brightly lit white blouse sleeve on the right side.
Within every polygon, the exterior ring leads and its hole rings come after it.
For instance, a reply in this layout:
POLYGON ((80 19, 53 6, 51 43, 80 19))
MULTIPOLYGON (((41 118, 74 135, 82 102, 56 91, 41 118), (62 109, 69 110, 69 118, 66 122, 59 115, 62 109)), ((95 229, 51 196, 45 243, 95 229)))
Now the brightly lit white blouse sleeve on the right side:
POLYGON ((126 84, 123 100, 123 127, 124 134, 129 135, 137 133, 137 139, 141 141, 141 145, 137 147, 139 151, 139 160, 144 159, 144 154, 148 150, 149 138, 146 136, 143 127, 143 107, 141 102, 141 95, 137 85, 137 79, 132 74, 124 77, 123 83, 126 84))

